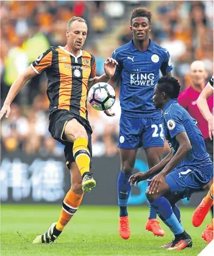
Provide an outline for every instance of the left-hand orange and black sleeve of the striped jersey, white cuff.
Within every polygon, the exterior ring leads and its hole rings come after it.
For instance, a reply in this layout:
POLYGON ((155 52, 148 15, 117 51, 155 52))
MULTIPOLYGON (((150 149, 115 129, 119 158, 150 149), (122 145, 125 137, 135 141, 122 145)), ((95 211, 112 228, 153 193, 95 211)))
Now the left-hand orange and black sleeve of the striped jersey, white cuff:
POLYGON ((52 64, 52 51, 48 49, 45 53, 42 53, 38 58, 30 64, 32 69, 38 74, 45 71, 52 64))

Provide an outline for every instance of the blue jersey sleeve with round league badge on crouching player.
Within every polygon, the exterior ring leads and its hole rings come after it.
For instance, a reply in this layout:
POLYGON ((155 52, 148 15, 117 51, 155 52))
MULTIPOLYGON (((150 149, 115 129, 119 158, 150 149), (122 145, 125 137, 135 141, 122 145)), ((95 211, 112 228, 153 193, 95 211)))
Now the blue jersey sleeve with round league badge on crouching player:
POLYGON ((169 115, 164 115, 166 126, 171 138, 176 137, 180 132, 186 132, 182 123, 183 114, 181 111, 174 109, 169 110, 169 115))

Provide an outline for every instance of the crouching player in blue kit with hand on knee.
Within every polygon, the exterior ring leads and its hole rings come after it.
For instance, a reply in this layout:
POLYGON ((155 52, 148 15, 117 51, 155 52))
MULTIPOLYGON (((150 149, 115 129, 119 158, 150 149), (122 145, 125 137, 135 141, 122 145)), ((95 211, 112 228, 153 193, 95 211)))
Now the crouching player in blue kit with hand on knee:
POLYGON ((163 110, 165 137, 171 153, 155 167, 129 179, 131 186, 134 186, 135 182, 138 184, 159 173, 149 179, 151 184, 146 197, 174 233, 173 241, 162 246, 169 250, 192 246, 190 235, 180 224, 179 208, 176 211, 173 209, 176 202, 190 197, 213 177, 213 162, 197 122, 177 103, 179 91, 179 81, 174 77, 160 78, 154 90, 154 105, 163 110))

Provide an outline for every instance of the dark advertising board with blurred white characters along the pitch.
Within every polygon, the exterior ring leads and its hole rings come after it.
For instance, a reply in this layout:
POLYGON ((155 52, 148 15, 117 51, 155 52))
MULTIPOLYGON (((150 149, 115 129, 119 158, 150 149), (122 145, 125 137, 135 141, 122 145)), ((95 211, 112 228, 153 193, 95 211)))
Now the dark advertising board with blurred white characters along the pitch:
MULTIPOLYGON (((135 162, 135 171, 148 170, 144 151, 135 162)), ((116 183, 119 173, 119 156, 93 158, 91 169, 97 186, 85 194, 85 205, 116 205, 116 183)), ((1 203, 62 203, 70 189, 70 172, 64 157, 30 156, 23 152, 2 154, 0 168, 1 203)), ((147 182, 141 182, 131 192, 130 205, 147 205, 144 195, 147 182)), ((206 192, 193 194, 190 201, 179 205, 198 206, 206 192)))

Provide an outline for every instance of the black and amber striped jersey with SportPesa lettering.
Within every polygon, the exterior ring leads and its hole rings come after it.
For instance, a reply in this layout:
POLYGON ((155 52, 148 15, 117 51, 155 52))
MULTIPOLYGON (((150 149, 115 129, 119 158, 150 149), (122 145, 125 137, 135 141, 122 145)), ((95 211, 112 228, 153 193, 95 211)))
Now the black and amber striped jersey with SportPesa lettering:
POLYGON ((38 74, 48 77, 49 111, 70 110, 87 119, 88 81, 95 79, 95 57, 81 50, 74 56, 63 47, 51 47, 32 64, 38 74))

